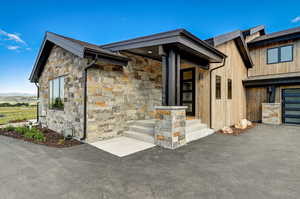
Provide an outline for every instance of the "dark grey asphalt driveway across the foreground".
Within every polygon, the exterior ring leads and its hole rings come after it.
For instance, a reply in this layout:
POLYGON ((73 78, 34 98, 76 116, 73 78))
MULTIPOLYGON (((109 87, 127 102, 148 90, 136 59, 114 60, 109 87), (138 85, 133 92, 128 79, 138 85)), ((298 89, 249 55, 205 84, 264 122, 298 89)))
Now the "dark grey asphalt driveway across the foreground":
POLYGON ((259 125, 117 158, 0 137, 0 198, 299 198, 300 127, 259 125))

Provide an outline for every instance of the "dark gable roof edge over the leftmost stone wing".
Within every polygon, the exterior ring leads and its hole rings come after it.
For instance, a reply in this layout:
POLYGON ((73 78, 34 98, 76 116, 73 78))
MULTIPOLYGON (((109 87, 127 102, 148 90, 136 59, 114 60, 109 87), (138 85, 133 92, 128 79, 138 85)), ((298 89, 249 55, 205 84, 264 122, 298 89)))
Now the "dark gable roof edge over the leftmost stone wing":
POLYGON ((44 65, 46 64, 54 45, 60 46, 61 48, 71 52, 74 55, 77 55, 80 58, 84 58, 85 55, 89 53, 97 54, 98 56, 106 60, 114 60, 116 62, 119 62, 120 64, 126 64, 129 60, 126 56, 102 49, 97 45, 58 35, 56 33, 46 32, 33 70, 29 77, 29 80, 31 82, 38 81, 38 78, 44 69, 44 65))

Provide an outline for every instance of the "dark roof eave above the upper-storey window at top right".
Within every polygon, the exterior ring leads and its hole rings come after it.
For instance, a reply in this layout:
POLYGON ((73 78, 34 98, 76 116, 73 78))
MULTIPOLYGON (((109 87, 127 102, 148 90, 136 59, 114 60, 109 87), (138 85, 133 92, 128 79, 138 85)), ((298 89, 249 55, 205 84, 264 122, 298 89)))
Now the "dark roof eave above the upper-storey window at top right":
POLYGON ((291 28, 271 34, 260 36, 248 43, 249 47, 262 46, 274 42, 287 41, 300 38, 300 27, 291 28))

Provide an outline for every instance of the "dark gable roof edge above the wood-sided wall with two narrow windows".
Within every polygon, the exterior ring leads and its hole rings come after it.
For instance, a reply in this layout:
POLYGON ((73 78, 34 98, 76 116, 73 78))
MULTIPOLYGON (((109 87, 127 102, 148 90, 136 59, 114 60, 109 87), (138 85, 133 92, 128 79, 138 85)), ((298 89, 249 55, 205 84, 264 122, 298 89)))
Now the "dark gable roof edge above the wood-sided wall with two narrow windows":
POLYGON ((248 47, 247 47, 247 44, 244 40, 244 36, 242 34, 242 31, 236 30, 236 31, 233 31, 233 32, 230 32, 230 33, 222 34, 222 35, 207 39, 205 41, 208 44, 216 47, 216 46, 219 46, 219 45, 224 44, 224 43, 226 43, 228 41, 231 41, 231 40, 235 41, 235 43, 238 47, 239 53, 240 53, 245 65, 246 65, 246 67, 247 68, 252 68, 253 62, 252 62, 252 59, 250 57, 248 47))

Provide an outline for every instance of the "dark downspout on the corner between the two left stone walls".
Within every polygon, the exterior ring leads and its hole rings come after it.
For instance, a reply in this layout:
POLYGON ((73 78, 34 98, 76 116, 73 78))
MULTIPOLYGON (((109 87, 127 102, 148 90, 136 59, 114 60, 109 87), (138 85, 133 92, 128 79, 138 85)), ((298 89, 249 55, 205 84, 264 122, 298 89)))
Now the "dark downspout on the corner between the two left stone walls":
POLYGON ((87 71, 90 67, 92 67, 98 59, 98 55, 96 54, 95 59, 86 65, 86 67, 84 68, 84 72, 83 72, 83 78, 84 78, 84 82, 83 82, 83 136, 82 138, 80 138, 80 140, 85 140, 86 139, 86 123, 87 123, 87 117, 86 117, 86 112, 87 112, 87 71))

